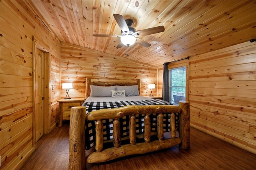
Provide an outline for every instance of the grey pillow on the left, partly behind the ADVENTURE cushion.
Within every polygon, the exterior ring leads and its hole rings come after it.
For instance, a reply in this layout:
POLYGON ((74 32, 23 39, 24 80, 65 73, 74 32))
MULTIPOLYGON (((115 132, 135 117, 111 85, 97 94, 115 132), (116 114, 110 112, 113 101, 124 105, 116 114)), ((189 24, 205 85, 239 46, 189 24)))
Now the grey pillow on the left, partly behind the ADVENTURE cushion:
POLYGON ((91 85, 90 88, 90 97, 111 97, 111 90, 116 90, 116 86, 91 85))

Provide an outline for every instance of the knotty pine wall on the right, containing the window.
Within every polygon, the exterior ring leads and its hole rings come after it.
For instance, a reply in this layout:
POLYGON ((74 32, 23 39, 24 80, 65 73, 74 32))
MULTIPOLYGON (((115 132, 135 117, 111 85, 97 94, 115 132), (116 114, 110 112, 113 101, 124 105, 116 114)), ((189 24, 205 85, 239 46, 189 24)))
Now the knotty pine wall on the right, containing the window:
MULTIPOLYGON (((186 62, 191 126, 256 154, 256 43, 248 40, 186 62)), ((162 69, 158 73, 160 87, 162 69)))

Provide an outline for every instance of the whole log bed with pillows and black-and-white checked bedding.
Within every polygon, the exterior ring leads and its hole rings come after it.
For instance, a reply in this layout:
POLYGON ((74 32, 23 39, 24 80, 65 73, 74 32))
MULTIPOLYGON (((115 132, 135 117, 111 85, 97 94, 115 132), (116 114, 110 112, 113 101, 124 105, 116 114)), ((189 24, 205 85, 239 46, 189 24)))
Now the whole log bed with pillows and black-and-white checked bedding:
POLYGON ((83 106, 71 108, 69 169, 176 145, 190 148, 187 101, 175 106, 142 97, 140 80, 102 83, 86 78, 85 96, 83 106), (163 138, 164 132, 171 137, 163 138), (92 148, 95 151, 86 157, 85 150, 92 148))

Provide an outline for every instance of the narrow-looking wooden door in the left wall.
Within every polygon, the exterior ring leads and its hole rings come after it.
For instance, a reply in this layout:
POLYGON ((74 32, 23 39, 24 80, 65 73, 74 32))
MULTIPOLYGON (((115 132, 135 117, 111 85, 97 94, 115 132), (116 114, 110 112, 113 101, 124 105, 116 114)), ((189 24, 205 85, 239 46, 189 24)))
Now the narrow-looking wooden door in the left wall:
POLYGON ((35 60, 35 128, 36 141, 44 134, 44 52, 36 49, 35 60))

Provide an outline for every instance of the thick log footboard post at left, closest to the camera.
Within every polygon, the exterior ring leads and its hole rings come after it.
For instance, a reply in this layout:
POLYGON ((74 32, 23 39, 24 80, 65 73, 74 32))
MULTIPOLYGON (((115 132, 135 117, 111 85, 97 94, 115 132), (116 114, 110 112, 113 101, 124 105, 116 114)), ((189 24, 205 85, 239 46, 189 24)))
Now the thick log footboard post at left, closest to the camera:
POLYGON ((69 170, 86 169, 85 159, 85 115, 86 107, 72 107, 69 128, 69 170))

